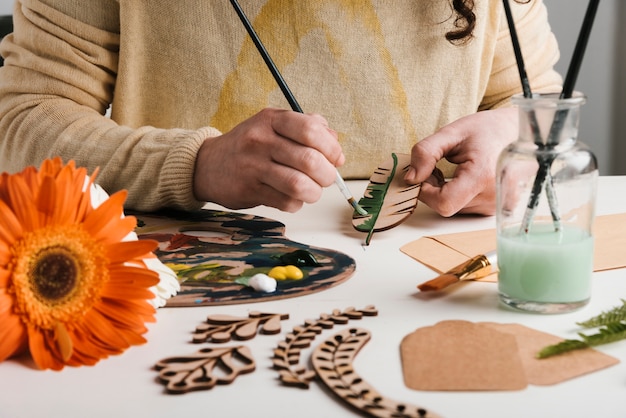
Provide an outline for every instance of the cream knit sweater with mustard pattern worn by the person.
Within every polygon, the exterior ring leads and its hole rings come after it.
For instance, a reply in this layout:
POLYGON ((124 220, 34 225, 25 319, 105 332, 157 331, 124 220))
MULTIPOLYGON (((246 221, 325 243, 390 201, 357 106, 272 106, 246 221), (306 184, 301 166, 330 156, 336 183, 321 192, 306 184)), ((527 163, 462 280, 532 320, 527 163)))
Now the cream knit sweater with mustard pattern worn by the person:
MULTIPOLYGON (((455 46, 448 0, 241 1, 304 111, 339 133, 348 179, 521 90, 502 1, 475 3, 474 38, 455 46)), ((558 88, 544 5, 511 4, 533 91, 558 88)), ((100 167, 129 207, 195 209, 203 140, 288 108, 228 0, 20 0, 14 24, 0 171, 59 155, 100 167)))

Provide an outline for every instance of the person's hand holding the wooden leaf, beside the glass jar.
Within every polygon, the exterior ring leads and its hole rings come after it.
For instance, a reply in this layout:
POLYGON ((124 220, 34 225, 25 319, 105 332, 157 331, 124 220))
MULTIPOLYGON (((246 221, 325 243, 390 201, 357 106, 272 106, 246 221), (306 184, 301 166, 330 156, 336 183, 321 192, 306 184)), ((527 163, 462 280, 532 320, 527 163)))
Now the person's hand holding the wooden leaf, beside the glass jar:
MULTIPOLYGON (((518 110, 486 110, 463 117, 413 146, 405 180, 422 183, 420 200, 442 216, 456 213, 493 215, 496 164, 505 146, 517 138, 518 110), (457 164, 444 182, 433 174, 442 158, 457 164)), ((436 172, 436 171, 435 171, 436 172)))

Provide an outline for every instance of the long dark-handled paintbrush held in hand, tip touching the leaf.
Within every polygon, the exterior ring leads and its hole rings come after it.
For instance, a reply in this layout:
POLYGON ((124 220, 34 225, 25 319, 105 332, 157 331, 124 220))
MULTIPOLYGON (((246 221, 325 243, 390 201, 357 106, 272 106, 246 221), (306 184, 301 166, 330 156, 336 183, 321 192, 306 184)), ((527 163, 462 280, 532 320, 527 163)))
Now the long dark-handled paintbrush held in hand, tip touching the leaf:
MULTIPOLYGON (((237 0, 230 0, 230 3, 235 8, 235 11, 237 12, 237 15, 239 16, 239 19, 241 20, 241 23, 243 23, 244 27, 248 31, 250 38, 252 38, 252 42, 254 42, 254 45, 259 51, 259 54, 261 54, 263 61, 265 61, 267 68, 272 73, 272 76, 274 76, 274 80, 276 80, 276 83, 278 84, 278 87, 280 87, 280 90, 283 92, 285 99, 287 99, 287 102, 289 102, 291 109, 294 112, 304 113, 302 111, 302 108, 298 104, 296 98, 294 97, 293 93, 289 89, 287 82, 285 81, 283 76, 280 74, 280 71, 278 71, 278 68, 274 64, 272 57, 270 57, 270 54, 267 52, 267 50, 265 49, 265 46, 261 42, 261 39, 259 38, 256 31, 252 27, 252 23, 250 23, 250 20, 248 20, 248 17, 241 9, 239 2, 237 0)), ((339 187, 339 191, 341 191, 341 194, 343 194, 346 200, 348 200, 348 203, 350 204, 350 206, 352 206, 359 215, 363 215, 363 216, 367 215, 367 211, 363 209, 361 205, 359 205, 359 203, 356 201, 352 193, 350 193, 350 190, 348 189, 348 186, 346 186, 345 181, 343 181, 343 178, 341 177, 341 174, 339 174, 339 171, 337 171, 335 184, 337 185, 337 187, 339 187)))

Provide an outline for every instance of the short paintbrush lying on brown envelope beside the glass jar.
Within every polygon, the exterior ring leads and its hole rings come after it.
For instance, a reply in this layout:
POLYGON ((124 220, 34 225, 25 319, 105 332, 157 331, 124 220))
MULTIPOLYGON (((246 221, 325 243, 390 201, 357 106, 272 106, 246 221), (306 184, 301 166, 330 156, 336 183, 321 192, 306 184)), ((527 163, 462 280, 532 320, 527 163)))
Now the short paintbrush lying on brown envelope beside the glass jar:
POLYGON ((417 286, 422 292, 442 290, 465 280, 481 279, 495 271, 496 252, 490 251, 470 258, 444 274, 417 286))

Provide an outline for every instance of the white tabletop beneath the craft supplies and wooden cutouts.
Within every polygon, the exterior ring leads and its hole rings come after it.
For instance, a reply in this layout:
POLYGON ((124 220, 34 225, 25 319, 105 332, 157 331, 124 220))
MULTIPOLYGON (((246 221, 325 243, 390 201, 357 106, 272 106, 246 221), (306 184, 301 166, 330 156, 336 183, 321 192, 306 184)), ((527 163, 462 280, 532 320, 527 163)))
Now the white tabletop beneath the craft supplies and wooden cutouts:
MULTIPOLYGON (((349 182, 362 196, 366 182, 349 182)), ((626 177, 601 177, 597 214, 626 212, 626 177)), ((320 202, 296 214, 269 208, 249 211, 279 220, 293 241, 331 248, 356 260, 356 272, 331 289, 279 301, 223 307, 162 308, 149 325, 148 343, 131 347, 119 356, 92 367, 39 371, 27 359, 0 363, 0 417, 339 417, 359 416, 335 398, 321 383, 307 389, 283 386, 272 368, 273 349, 285 334, 306 319, 353 306, 375 305, 376 317, 336 325, 319 335, 315 347, 346 326, 372 333, 354 362, 355 370, 382 395, 419 405, 443 417, 625 417, 626 341, 599 347, 622 362, 616 366, 553 386, 532 386, 521 391, 428 392, 404 385, 400 342, 423 326, 442 320, 519 323, 564 338, 576 337, 576 321, 610 309, 626 298, 626 270, 595 273, 593 294, 583 309, 560 315, 537 315, 509 310, 498 302, 494 283, 467 283, 444 296, 424 297, 416 285, 433 278, 427 267, 399 248, 423 235, 495 227, 494 217, 442 218, 419 204, 404 224, 374 235, 369 247, 364 234, 350 222, 351 210, 336 188, 324 192, 320 202), (231 385, 211 390, 170 395, 156 381, 153 365, 166 357, 192 354, 205 345, 192 344, 191 332, 209 314, 246 317, 250 311, 288 313, 277 335, 258 335, 237 342, 247 345, 257 368, 231 385)), ((626 250, 626 249, 625 249, 626 250)), ((300 364, 310 350, 302 352, 300 364)))

